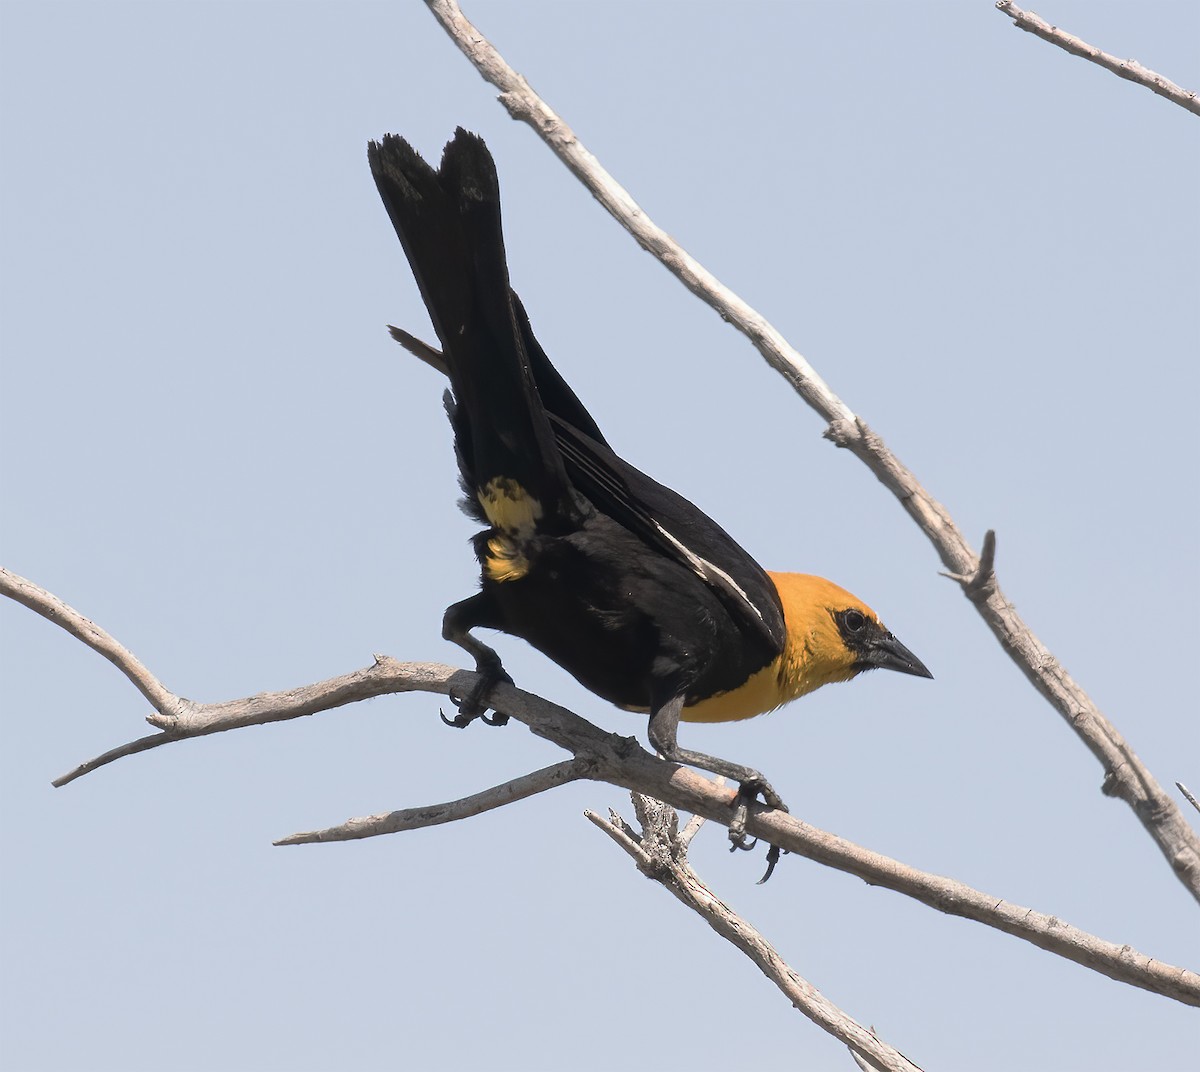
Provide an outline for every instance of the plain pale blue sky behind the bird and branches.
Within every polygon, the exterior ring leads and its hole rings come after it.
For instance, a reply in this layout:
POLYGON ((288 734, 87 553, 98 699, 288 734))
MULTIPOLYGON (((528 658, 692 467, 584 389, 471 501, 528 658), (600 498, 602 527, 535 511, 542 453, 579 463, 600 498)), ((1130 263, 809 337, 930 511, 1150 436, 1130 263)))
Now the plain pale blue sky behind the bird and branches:
MULTIPOLYGON (((1200 8, 1039 12, 1200 85, 1200 8)), ((466 8, 662 227, 953 511, 1158 778, 1200 787, 1195 116, 956 4, 466 8)), ((613 444, 764 565, 826 574, 936 675, 872 675, 685 744, 803 819, 1193 969, 1195 904, 899 504, 604 214, 418 2, 0 4, 0 561, 221 700, 460 661, 473 591, 427 319, 366 167, 458 124, 515 286, 613 444)), ((185 742, 0 606, 13 1070, 842 1070, 848 1056, 582 819, 271 839, 560 757, 428 696, 185 742)), ((520 641, 520 684, 644 739, 520 641)), ((714 890, 929 1070, 1178 1067, 1195 1013, 704 832, 714 890)))

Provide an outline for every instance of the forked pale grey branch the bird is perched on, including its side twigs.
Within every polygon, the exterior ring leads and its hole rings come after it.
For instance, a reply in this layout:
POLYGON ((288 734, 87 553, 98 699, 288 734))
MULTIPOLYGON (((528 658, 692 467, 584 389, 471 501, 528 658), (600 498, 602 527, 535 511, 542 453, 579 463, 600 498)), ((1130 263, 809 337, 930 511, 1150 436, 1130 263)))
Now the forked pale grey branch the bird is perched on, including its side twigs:
MULTIPOLYGON (((20 594, 19 601, 25 606, 61 625, 89 647, 113 651, 120 648, 122 657, 113 661, 142 689, 143 695, 145 694, 143 687, 154 679, 152 675, 131 653, 62 600, 32 581, 0 568, 0 594, 14 593, 20 594)), ((110 749, 103 756, 77 767, 72 774, 59 779, 58 784, 65 784, 79 773, 94 771, 121 756, 174 744, 190 737, 302 718, 322 711, 337 709, 358 700, 392 693, 463 695, 470 691, 475 682, 476 675, 472 671, 455 670, 452 666, 436 663, 398 663, 386 655, 376 655, 371 666, 341 677, 282 693, 259 693, 220 703, 197 703, 185 700, 160 684, 158 702, 154 713, 146 719, 160 727, 160 733, 110 749)), ((350 820, 341 827, 316 834, 293 836, 284 842, 295 844, 306 840, 349 840, 388 833, 391 830, 436 826, 542 792, 576 778, 607 781, 726 827, 734 816, 733 790, 716 785, 688 767, 650 755, 632 737, 607 733, 565 707, 510 684, 497 685, 491 699, 499 709, 527 725, 539 737, 569 751, 572 760, 452 804, 407 809, 394 813, 392 816, 376 816, 372 820, 350 820)), ((786 812, 754 806, 746 821, 746 831, 751 837, 761 838, 788 852, 858 875, 872 886, 886 886, 938 911, 995 927, 1076 964, 1092 968, 1110 978, 1188 1005, 1200 1006, 1200 977, 1186 969, 1163 964, 1134 952, 1128 946, 1104 941, 1032 909, 1007 904, 953 879, 918 872, 899 861, 889 860, 800 822, 786 812)))

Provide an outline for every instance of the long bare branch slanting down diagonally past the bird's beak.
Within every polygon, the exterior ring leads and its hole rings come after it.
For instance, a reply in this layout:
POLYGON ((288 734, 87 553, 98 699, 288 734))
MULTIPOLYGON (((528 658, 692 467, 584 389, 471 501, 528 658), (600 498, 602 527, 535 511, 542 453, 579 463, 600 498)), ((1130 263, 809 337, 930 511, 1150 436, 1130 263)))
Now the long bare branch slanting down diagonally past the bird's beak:
POLYGON ((580 143, 575 132, 517 74, 460 11, 454 0, 426 0, 433 16, 480 74, 500 90, 500 103, 529 124, 610 215, 666 265, 694 294, 742 331, 767 363, 827 421, 826 437, 856 455, 908 511, 955 577, 986 573, 974 588, 965 583, 1001 647, 1033 687, 1063 715, 1104 767, 1103 791, 1123 799, 1141 821, 1181 882, 1200 900, 1200 837, 1184 821, 1150 769, 1100 713, 1088 695, 1050 654, 1004 598, 990 568, 976 556, 946 508, 905 468, 883 441, 829 389, 767 319, 690 257, 659 228, 580 143))

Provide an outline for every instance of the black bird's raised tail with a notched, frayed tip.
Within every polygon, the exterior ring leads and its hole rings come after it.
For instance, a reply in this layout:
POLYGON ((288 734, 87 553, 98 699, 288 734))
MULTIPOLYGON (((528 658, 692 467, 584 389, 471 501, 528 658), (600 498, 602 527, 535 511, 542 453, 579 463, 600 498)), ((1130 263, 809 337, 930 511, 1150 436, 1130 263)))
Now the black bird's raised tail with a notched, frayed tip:
POLYGON ((442 341, 468 493, 498 528, 553 528, 574 514, 574 497, 530 369, 528 321, 509 288, 487 146, 458 128, 434 170, 386 134, 367 157, 442 341))

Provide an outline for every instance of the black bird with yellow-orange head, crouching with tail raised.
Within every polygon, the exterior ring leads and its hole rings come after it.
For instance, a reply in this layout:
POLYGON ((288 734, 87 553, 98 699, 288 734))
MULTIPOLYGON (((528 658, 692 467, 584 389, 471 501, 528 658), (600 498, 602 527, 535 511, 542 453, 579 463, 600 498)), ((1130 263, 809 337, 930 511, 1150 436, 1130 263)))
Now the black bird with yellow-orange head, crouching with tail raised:
POLYGON ((856 595, 768 573, 613 450, 510 285, 499 178, 479 134, 458 127, 436 168, 397 134, 370 142, 367 157, 442 348, 390 330, 449 377, 462 504, 484 526, 479 591, 442 624, 475 660, 476 684, 443 719, 506 721, 488 696, 511 678, 474 630, 520 637, 601 699, 648 714, 665 760, 737 781, 730 836, 751 848, 748 802, 786 806, 757 769, 680 747, 680 721, 752 718, 868 670, 932 675, 856 595))

